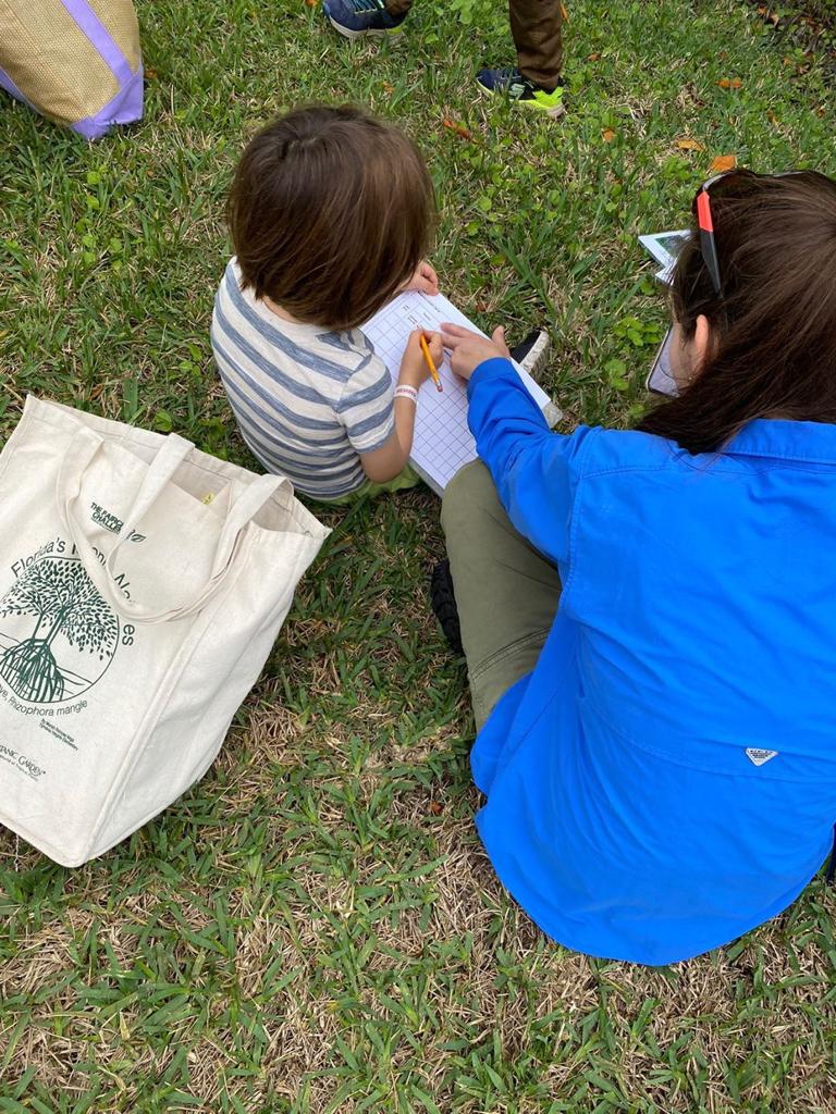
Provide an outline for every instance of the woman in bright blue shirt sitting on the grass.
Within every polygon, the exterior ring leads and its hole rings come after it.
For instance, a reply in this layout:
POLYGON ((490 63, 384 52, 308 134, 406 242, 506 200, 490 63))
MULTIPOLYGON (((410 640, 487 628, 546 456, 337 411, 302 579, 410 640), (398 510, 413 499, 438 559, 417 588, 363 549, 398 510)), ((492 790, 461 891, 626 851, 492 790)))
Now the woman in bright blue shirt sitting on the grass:
POLYGON ((643 964, 780 912, 836 820, 836 183, 732 172, 694 212, 679 395, 636 430, 552 433, 500 331, 445 331, 478 830, 544 931, 643 964))

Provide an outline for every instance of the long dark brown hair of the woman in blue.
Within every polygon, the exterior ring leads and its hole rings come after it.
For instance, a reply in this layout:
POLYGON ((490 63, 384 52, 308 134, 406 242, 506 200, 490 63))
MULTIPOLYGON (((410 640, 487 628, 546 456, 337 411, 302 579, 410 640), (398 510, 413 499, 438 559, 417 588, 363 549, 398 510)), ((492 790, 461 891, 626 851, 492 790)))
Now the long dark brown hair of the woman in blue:
POLYGON ((678 398, 639 422, 689 452, 713 452, 755 418, 836 422, 836 182, 738 170, 710 187, 721 290, 697 231, 673 278, 673 315, 711 350, 678 398))

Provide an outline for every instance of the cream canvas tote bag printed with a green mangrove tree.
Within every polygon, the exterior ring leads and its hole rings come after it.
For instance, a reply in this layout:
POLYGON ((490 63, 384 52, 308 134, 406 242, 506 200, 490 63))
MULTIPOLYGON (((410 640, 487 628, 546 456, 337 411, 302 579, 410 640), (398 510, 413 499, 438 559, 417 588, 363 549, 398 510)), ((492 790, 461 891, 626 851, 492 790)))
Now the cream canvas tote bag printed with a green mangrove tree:
POLYGON ((329 531, 283 477, 33 398, 0 524, 0 823, 75 867, 205 773, 329 531))

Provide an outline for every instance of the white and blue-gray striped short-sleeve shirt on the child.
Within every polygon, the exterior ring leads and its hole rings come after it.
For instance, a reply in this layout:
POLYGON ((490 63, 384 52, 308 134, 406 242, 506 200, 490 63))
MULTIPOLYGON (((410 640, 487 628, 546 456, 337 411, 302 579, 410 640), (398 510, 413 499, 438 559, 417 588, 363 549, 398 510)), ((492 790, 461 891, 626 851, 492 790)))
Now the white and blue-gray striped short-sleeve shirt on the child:
POLYGON ((233 258, 211 339, 241 436, 268 471, 319 499, 364 482, 358 453, 385 444, 395 417, 391 377, 359 329, 284 321, 241 290, 233 258))

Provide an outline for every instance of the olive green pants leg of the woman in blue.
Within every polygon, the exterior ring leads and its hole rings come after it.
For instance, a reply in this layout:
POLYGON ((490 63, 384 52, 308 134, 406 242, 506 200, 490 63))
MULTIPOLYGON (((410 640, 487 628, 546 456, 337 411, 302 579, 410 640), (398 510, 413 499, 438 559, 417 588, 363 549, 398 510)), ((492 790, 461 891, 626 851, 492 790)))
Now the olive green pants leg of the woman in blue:
POLYGON ((499 697, 536 665, 561 580, 511 525, 480 460, 447 485, 441 526, 478 731, 499 697))

